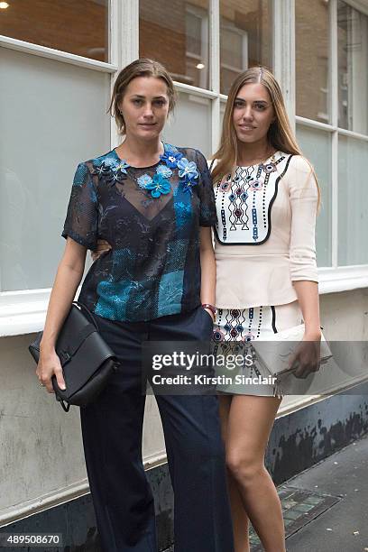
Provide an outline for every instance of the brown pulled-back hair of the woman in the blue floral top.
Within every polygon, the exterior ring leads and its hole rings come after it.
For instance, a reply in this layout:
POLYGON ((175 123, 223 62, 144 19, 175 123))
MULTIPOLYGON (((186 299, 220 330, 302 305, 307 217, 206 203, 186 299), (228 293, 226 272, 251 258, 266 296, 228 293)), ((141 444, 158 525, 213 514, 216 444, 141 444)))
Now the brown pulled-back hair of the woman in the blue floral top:
POLYGON ((132 63, 124 67, 116 77, 110 106, 107 111, 107 113, 115 117, 119 134, 123 136, 125 134, 125 122, 119 106, 128 84, 136 77, 156 77, 161 78, 165 82, 168 88, 169 113, 174 109, 176 102, 176 92, 172 78, 170 77, 169 71, 165 69, 159 61, 149 60, 148 58, 139 58, 138 60, 132 61, 132 63))

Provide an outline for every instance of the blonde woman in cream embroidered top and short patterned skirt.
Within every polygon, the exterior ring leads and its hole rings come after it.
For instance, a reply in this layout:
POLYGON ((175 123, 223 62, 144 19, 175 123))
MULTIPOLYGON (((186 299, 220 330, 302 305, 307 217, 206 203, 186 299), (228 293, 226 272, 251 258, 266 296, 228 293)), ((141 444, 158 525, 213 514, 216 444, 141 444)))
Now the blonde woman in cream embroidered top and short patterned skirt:
MULTIPOLYGON (((267 69, 233 83, 220 147, 213 156, 216 235, 214 341, 248 342, 305 322, 303 341, 320 340, 314 171, 290 129, 281 89, 267 69)), ((300 345, 297 375, 317 367, 317 349, 300 345), (313 350, 311 350, 313 349, 313 350)), ((256 376, 254 368, 249 375, 256 376)), ((218 386, 235 531, 249 550, 248 520, 266 552, 285 550, 281 502, 264 466, 281 403, 273 385, 218 386)))

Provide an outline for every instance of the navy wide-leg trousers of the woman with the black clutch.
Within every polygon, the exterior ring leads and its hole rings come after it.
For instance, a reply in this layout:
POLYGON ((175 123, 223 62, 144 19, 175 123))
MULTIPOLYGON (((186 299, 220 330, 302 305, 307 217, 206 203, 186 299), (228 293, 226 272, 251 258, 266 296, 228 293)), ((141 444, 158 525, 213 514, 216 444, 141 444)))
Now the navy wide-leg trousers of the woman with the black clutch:
MULTIPOLYGON (((203 308, 150 322, 96 317, 121 363, 80 409, 90 490, 105 552, 157 552, 154 504, 143 469, 143 341, 207 339, 203 308)), ((225 454, 215 395, 157 395, 174 490, 175 552, 233 552, 225 454)))

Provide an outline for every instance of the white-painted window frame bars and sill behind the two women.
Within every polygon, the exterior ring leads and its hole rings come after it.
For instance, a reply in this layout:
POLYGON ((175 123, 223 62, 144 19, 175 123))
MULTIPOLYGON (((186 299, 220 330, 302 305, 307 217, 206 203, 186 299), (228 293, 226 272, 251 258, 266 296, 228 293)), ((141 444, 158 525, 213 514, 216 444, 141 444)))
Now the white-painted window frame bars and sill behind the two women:
MULTIPOLYGON (((345 0, 346 4, 368 15, 368 0, 345 0)), ((330 55, 331 55, 331 124, 318 123, 295 115, 295 0, 280 0, 274 3, 271 14, 273 26, 272 63, 276 78, 281 83, 290 123, 325 130, 332 134, 331 179, 332 179, 332 266, 321 267, 319 292, 333 293, 368 287, 368 265, 338 266, 337 264, 337 147, 339 134, 368 141, 368 136, 347 131, 337 126, 337 0, 330 0, 330 55)), ((72 63, 79 67, 106 71, 111 75, 111 88, 120 69, 139 55, 139 2, 137 0, 110 0, 109 4, 110 62, 90 60, 63 51, 18 41, 0 36, 0 47, 31 53, 52 60, 72 63), (123 40, 124 37, 124 40, 123 40)), ((211 100, 211 146, 216 151, 220 136, 220 102, 226 96, 220 93, 220 6, 219 0, 209 0, 209 89, 192 87, 175 82, 180 92, 205 97, 211 100)), ((119 142, 114 119, 111 120, 111 147, 119 142)), ((44 324, 51 289, 0 291, 0 336, 16 336, 41 330, 44 324)))

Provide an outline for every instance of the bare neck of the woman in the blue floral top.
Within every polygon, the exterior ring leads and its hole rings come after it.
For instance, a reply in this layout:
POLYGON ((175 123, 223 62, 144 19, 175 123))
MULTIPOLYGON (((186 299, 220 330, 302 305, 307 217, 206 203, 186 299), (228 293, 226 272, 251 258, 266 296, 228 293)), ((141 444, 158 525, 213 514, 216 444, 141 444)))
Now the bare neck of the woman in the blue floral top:
POLYGON ((154 140, 137 140, 126 136, 115 152, 133 167, 148 167, 159 161, 164 149, 160 136, 154 140))

